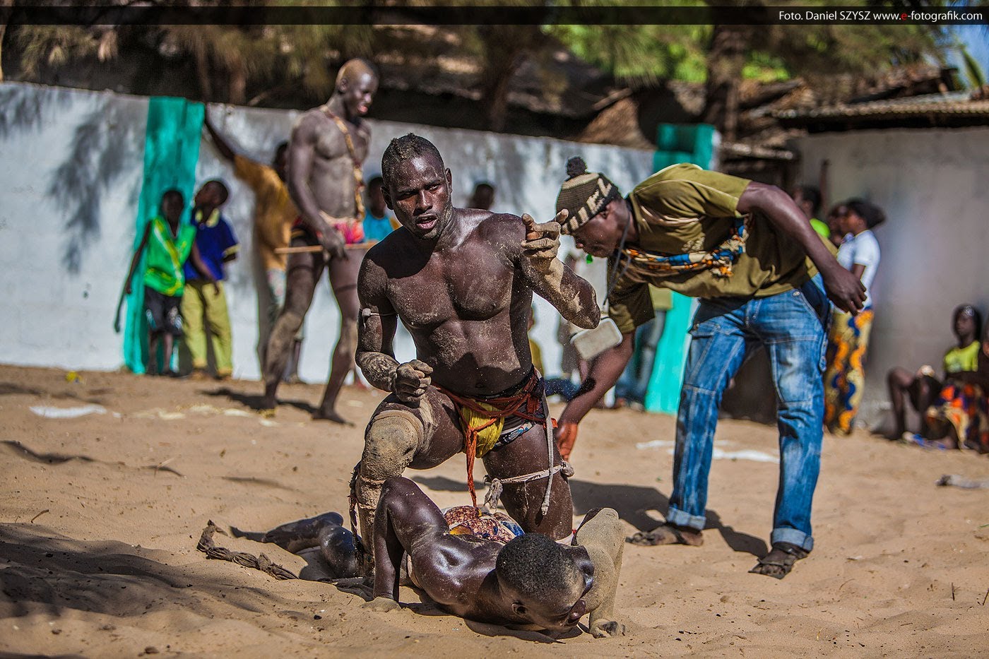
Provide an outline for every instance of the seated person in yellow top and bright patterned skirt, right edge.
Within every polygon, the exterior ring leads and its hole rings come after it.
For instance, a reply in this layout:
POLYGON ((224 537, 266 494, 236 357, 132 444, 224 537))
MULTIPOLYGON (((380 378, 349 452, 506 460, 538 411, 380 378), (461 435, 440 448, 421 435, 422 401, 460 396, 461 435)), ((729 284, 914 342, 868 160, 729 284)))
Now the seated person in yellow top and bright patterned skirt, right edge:
POLYGON ((928 436, 922 445, 989 453, 989 328, 980 348, 976 370, 951 375, 928 409, 928 436))

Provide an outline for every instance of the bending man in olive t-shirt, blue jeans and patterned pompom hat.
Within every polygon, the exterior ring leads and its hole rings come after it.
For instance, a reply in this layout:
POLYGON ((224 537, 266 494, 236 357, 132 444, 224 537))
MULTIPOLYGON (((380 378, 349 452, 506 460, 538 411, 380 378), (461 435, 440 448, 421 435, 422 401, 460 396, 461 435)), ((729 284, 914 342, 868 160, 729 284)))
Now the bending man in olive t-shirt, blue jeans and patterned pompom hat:
POLYGON ((772 550, 752 571, 782 579, 814 544, 810 511, 820 470, 828 298, 854 314, 864 301, 860 282, 775 186, 677 164, 623 198, 580 158, 571 158, 567 171, 557 198, 557 211, 570 212, 562 233, 587 253, 609 258, 608 316, 622 341, 594 360, 581 393, 561 415, 561 453, 566 458, 577 424, 624 369, 635 329, 653 317, 649 284, 699 298, 677 415, 670 512, 666 523, 629 541, 703 541, 721 395, 746 356, 764 345, 778 408, 780 485, 772 550))

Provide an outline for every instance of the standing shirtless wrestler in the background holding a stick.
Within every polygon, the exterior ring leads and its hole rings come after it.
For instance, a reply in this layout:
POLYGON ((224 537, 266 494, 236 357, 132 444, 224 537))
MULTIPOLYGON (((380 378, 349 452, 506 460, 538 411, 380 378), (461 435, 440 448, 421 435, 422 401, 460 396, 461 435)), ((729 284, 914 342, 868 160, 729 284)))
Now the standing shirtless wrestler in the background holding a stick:
POLYGON ((322 270, 328 268, 329 285, 340 309, 340 332, 326 391, 313 418, 346 423, 336 412, 336 397, 354 360, 357 272, 364 255, 363 250, 348 250, 346 245, 364 242, 361 162, 367 156, 371 132, 361 118, 377 89, 378 75, 371 65, 351 59, 340 68, 329 101, 305 113, 292 130, 288 186, 300 216, 291 245, 321 245, 323 249, 289 254, 285 306, 265 353, 262 407, 266 410, 278 405, 278 385, 293 339, 313 303, 322 270))

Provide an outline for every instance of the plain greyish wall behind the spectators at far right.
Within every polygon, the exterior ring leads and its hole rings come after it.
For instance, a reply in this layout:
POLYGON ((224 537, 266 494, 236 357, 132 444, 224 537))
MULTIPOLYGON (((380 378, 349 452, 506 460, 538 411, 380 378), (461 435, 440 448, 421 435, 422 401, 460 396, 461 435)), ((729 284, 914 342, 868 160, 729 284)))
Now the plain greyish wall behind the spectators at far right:
POLYGON ((989 312, 989 129, 834 133, 794 145, 804 181, 831 160, 832 204, 862 197, 886 211, 875 230, 882 259, 859 416, 876 424, 889 368, 940 371, 951 310, 971 303, 989 312))

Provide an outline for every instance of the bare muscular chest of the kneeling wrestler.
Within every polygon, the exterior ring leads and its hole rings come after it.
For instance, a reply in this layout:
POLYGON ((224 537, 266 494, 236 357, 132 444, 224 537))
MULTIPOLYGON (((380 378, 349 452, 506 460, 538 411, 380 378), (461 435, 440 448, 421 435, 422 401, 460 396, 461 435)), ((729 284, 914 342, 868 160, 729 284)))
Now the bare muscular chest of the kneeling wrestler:
POLYGON ((392 279, 390 297, 413 329, 448 321, 484 321, 511 304, 514 266, 491 249, 464 246, 434 254, 415 274, 392 279))

